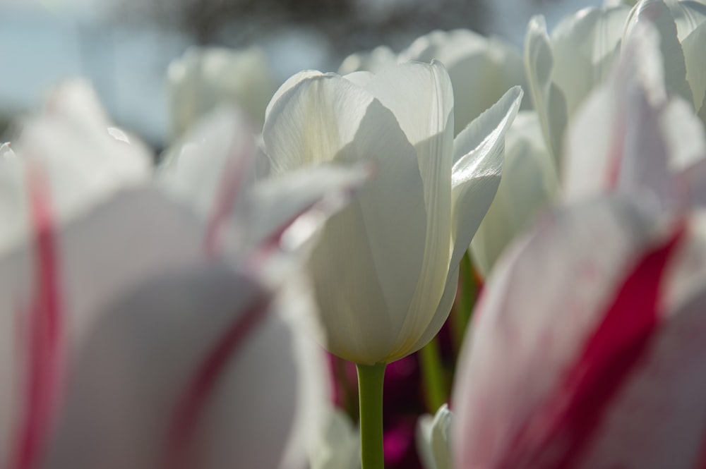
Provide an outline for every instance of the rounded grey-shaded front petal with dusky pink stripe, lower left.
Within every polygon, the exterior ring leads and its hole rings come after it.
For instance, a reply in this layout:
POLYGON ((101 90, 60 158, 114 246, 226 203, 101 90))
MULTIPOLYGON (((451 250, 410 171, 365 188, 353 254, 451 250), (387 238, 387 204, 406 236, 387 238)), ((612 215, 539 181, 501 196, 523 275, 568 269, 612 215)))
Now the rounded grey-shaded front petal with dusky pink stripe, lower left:
POLYGON ((215 368, 218 379, 195 397, 193 422, 184 424, 191 467, 295 467, 282 459, 301 375, 292 331, 266 312, 262 295, 210 265, 152 281, 114 303, 76 355, 44 467, 166 467, 180 422, 174 419, 221 343, 229 353, 215 368), (250 315, 260 319, 244 329, 247 340, 226 340, 250 315))

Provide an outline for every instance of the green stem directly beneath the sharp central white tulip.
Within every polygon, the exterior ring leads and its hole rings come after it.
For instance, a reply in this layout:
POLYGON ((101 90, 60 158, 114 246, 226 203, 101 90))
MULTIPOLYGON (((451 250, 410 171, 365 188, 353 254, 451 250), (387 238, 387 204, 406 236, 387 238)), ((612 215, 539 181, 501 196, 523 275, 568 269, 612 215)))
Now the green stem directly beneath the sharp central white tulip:
POLYGON ((360 399, 360 449, 362 469, 384 469, 383 380, 385 363, 356 365, 360 399))

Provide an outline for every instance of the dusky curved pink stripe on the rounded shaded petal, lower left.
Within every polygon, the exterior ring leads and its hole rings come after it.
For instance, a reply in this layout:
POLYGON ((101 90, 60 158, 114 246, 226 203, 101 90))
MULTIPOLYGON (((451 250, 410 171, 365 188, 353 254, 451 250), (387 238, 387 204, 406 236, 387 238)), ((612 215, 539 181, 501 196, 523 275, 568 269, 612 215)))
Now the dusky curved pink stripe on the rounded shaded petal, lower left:
POLYGON ((267 316, 269 305, 270 298, 263 296, 256 298, 249 309, 239 315, 225 331, 198 366, 193 379, 186 386, 186 391, 177 401, 167 434, 167 448, 162 468, 198 468, 198 464, 190 459, 190 448, 198 421, 208 404, 208 398, 213 394, 217 381, 227 369, 229 361, 236 357, 244 343, 256 331, 256 326, 267 316))

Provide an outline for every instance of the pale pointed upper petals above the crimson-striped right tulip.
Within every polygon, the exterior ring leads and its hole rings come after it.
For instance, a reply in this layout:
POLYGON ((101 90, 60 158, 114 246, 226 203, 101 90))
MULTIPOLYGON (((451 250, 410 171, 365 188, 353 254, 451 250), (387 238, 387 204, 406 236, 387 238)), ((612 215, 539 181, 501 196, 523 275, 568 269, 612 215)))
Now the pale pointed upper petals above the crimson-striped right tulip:
POLYGON ((661 71, 657 32, 635 26, 611 81, 569 132, 567 198, 616 189, 650 209, 684 205, 672 171, 702 158, 706 142, 686 103, 666 101, 661 71))

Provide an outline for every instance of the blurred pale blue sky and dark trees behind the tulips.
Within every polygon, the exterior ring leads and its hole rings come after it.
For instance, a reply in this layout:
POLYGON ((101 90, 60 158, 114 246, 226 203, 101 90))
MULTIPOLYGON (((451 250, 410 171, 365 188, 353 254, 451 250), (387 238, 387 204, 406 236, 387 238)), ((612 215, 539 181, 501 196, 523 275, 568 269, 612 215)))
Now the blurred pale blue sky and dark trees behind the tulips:
MULTIPOLYGON (((275 82, 336 71, 354 51, 395 51, 435 29, 469 28, 520 47, 527 20, 548 28, 601 0, 0 0, 0 136, 52 84, 81 75, 114 121, 160 148, 166 71, 192 44, 265 52, 275 82)), ((1 138, 0 138, 1 140, 1 138)))

